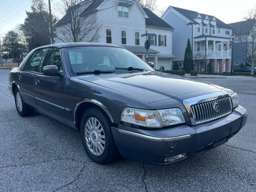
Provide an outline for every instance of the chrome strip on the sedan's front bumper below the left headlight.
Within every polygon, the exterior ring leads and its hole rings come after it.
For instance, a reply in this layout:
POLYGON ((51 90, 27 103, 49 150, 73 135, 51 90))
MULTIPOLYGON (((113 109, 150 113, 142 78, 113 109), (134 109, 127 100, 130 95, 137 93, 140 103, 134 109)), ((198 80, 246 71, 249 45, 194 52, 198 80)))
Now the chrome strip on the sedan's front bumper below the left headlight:
POLYGON ((156 141, 174 141, 174 140, 191 138, 190 134, 181 135, 181 136, 177 136, 177 137, 154 137, 154 136, 149 136, 149 135, 144 135, 144 134, 140 134, 140 133, 126 131, 126 130, 123 130, 123 129, 118 129, 118 131, 121 132, 121 133, 128 134, 128 135, 133 135, 133 136, 141 137, 141 138, 144 138, 144 139, 150 139, 150 140, 156 140, 156 141))

